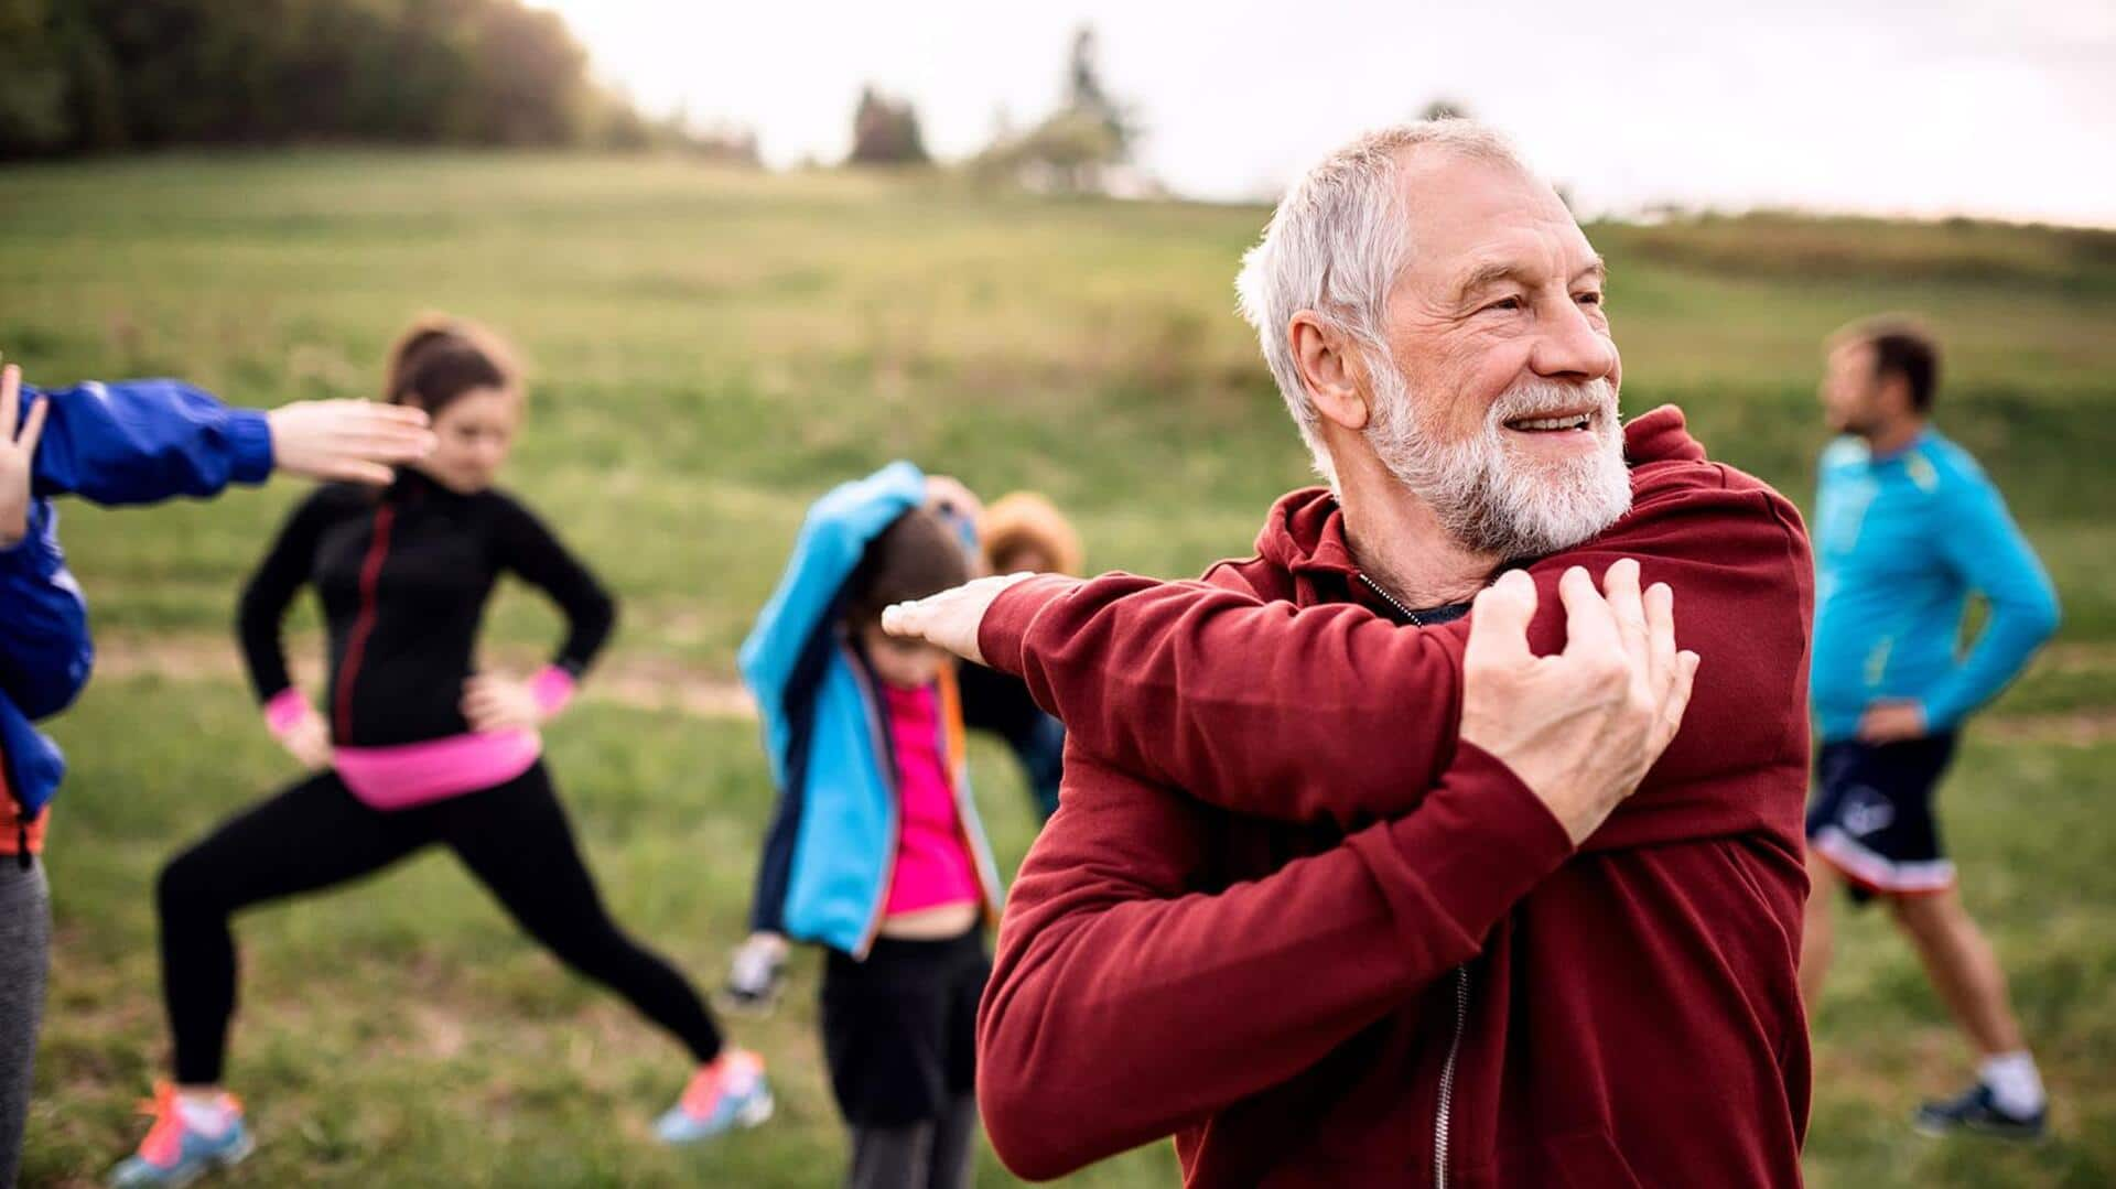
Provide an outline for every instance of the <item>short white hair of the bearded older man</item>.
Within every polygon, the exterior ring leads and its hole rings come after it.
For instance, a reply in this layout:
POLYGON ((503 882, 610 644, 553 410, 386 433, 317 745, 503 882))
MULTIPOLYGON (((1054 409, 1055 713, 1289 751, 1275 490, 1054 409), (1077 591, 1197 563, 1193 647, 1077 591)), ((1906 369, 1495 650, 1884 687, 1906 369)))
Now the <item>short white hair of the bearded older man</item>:
POLYGON ((1234 281, 1242 317, 1257 328, 1263 360, 1308 442, 1316 474, 1331 487, 1337 487, 1337 468, 1316 432, 1316 406, 1287 326, 1308 309, 1358 341, 1369 360, 1392 358, 1382 326, 1388 292, 1411 250, 1397 173, 1418 148, 1528 171, 1507 138, 1477 121, 1418 121, 1369 131, 1325 157, 1287 190, 1263 239, 1242 256, 1242 275, 1234 281))

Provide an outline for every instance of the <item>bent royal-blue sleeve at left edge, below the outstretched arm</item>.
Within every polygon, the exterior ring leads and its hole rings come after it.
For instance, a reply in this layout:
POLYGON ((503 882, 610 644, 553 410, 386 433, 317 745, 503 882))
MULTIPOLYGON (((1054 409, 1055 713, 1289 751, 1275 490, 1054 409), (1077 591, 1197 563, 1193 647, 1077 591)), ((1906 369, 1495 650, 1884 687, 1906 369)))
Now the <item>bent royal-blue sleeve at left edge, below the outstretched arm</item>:
POLYGON ((89 679, 89 607, 59 552, 59 514, 30 506, 30 531, 0 550, 0 690, 32 719, 72 705, 89 679))

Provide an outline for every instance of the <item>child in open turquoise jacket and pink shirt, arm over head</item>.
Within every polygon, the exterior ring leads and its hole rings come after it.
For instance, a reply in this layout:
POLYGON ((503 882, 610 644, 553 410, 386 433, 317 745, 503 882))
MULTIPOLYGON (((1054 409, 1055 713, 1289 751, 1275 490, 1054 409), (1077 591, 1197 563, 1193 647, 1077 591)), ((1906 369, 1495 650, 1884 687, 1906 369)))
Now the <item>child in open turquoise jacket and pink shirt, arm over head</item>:
POLYGON ((819 1024, 851 1189, 971 1178, 999 870, 952 658, 880 628, 887 605, 969 578, 971 506, 904 461, 836 487, 738 658, 779 802, 736 963, 777 965, 785 939, 827 950, 819 1024))

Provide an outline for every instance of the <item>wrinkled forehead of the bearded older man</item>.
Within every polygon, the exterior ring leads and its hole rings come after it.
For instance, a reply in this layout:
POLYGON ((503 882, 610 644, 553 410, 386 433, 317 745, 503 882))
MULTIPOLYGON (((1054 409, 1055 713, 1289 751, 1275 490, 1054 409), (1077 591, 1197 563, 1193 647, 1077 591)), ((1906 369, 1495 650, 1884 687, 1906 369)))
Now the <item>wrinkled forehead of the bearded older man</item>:
POLYGON ((1515 165, 1413 152, 1397 184, 1411 248, 1403 281, 1454 290, 1513 273, 1543 283, 1600 264, 1557 190, 1515 165))

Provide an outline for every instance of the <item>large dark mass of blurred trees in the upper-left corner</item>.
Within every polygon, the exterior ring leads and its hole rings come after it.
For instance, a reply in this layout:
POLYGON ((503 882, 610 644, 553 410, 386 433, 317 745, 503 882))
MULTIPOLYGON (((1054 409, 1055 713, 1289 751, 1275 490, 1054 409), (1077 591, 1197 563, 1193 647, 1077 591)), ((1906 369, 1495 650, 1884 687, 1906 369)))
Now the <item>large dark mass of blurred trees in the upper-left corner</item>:
POLYGON ((0 0, 0 159, 292 142, 755 154, 641 116, 518 0, 0 0))

